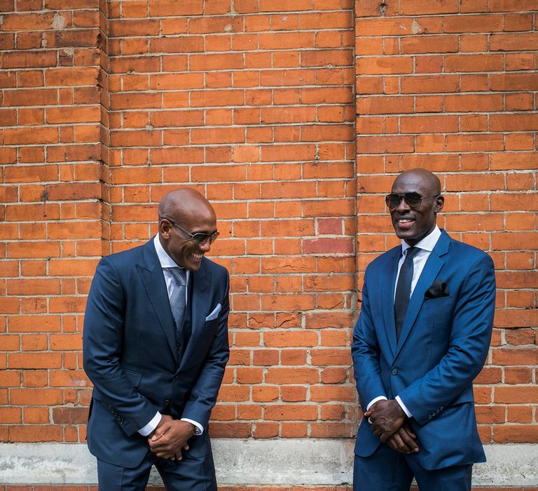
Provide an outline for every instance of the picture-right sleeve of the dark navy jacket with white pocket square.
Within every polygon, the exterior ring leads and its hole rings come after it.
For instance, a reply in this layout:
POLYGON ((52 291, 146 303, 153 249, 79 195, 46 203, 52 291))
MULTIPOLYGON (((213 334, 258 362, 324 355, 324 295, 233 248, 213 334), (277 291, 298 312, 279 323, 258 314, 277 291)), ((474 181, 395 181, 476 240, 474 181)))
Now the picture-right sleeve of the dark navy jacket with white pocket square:
POLYGON ((226 277, 223 281, 226 283, 223 297, 221 299, 221 311, 217 319, 218 328, 216 335, 207 356, 200 369, 200 375, 196 380, 191 396, 189 397, 182 418, 192 419, 207 427, 211 410, 216 403, 216 397, 219 394, 219 389, 224 376, 226 363, 230 357, 230 348, 228 344, 228 314, 230 312, 230 302, 228 292, 230 288, 230 278, 228 271, 225 271, 226 277))

